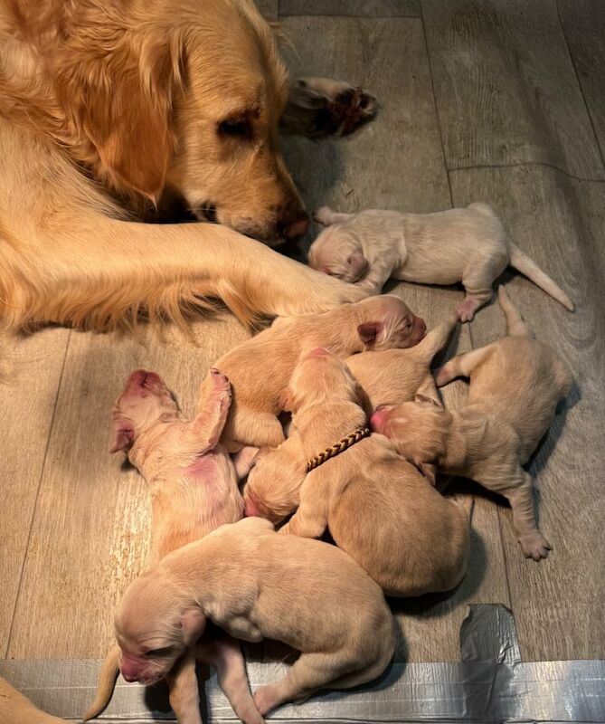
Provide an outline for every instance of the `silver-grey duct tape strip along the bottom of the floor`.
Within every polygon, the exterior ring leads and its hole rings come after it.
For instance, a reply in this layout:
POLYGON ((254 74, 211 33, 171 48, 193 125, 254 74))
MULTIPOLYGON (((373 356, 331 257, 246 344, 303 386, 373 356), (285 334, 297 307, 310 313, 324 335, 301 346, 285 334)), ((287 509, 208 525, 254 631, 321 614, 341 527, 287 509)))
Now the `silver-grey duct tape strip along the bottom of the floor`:
MULTIPOLYGON (((521 662, 512 614, 471 606, 462 625, 462 662, 394 664, 372 687, 313 697, 276 710, 288 722, 598 722, 605 721, 605 662, 521 662)), ((78 720, 97 684, 100 662, 0 662, 0 676, 41 709, 78 720)), ((251 662, 252 689, 274 681, 284 664, 251 662)), ((206 682, 208 722, 237 721, 213 677, 206 682)), ((165 696, 118 681, 100 721, 174 721, 165 696), (154 698, 155 697, 155 698, 154 698)), ((11 724, 0 719, 0 724, 11 724)))

